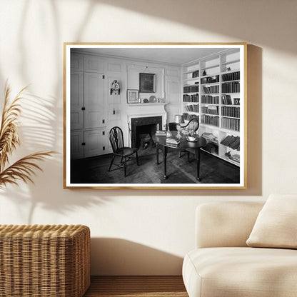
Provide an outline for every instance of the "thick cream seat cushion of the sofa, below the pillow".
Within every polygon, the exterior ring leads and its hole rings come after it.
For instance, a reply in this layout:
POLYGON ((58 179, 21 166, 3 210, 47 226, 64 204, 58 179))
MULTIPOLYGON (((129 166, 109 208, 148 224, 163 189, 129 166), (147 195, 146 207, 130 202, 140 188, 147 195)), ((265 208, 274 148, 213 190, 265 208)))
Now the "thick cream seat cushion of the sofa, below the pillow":
POLYGON ((190 297, 297 296, 297 251, 198 248, 183 260, 190 297))

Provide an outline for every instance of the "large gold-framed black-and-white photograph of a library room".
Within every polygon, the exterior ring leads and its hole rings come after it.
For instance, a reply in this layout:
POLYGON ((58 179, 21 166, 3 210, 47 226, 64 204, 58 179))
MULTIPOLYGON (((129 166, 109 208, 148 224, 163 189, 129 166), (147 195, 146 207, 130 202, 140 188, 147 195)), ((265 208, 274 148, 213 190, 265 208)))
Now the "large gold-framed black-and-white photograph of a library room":
POLYGON ((246 188, 246 49, 65 43, 64 188, 246 188))

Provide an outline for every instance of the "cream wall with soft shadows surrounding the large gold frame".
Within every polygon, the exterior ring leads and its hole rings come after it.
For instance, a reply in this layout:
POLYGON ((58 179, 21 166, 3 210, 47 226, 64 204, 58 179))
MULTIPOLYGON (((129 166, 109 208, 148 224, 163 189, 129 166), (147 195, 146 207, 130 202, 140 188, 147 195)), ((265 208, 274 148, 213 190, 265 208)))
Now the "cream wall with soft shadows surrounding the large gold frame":
POLYGON ((296 14, 290 0, 1 1, 0 89, 31 84, 17 156, 59 155, 1 191, 0 223, 90 226, 93 274, 180 274, 199 203, 296 193, 296 14), (248 188, 63 190, 64 41, 247 41, 248 188))

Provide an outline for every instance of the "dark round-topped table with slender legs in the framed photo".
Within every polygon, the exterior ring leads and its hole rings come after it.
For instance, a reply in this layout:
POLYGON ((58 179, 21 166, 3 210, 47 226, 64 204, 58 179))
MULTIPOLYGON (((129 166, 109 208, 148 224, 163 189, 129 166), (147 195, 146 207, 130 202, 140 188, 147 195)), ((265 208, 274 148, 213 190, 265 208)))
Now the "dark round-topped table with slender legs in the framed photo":
MULTIPOLYGON (((172 132, 172 136, 176 136, 176 132, 172 132)), ((206 139, 203 139, 203 137, 199 137, 197 141, 191 142, 186 140, 186 136, 183 135, 181 138, 181 142, 178 145, 174 144, 168 144, 166 143, 166 136, 156 136, 156 158, 157 158, 157 164, 158 164, 158 150, 161 149, 163 151, 163 163, 164 163, 164 176, 163 179, 167 178, 167 168, 166 168, 166 158, 167 158, 167 152, 168 148, 175 148, 175 149, 193 149, 195 152, 195 158, 196 158, 196 167, 197 167, 197 181, 201 181, 199 176, 200 171, 200 148, 206 146, 206 139)))

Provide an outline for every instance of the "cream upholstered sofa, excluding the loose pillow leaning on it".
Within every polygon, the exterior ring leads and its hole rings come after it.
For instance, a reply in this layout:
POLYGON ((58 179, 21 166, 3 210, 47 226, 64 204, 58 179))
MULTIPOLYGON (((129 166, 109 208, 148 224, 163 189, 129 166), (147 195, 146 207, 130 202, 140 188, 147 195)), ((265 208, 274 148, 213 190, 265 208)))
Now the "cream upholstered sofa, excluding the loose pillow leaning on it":
POLYGON ((246 245, 262 207, 253 202, 198 206, 196 249, 183 261, 190 297, 297 296, 297 251, 246 245))

